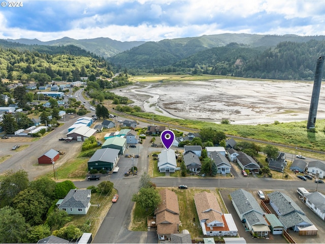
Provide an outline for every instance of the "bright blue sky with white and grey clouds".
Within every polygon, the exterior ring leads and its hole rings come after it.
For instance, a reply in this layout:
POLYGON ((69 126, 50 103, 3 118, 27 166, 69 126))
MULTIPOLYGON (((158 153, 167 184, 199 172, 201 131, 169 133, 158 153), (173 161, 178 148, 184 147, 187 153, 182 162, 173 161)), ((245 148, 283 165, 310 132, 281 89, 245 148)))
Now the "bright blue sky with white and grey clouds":
POLYGON ((0 0, 0 3, 0 39, 108 37, 125 42, 223 33, 325 35, 325 0, 0 0), (19 5, 13 7, 13 3, 19 5))

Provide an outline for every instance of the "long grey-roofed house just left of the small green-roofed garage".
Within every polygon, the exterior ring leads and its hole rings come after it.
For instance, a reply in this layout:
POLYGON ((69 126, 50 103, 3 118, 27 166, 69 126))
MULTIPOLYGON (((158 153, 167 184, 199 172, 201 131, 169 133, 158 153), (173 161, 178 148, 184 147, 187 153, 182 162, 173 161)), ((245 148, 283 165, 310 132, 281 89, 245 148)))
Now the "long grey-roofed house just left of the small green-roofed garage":
POLYGON ((240 220, 252 234, 268 236, 271 231, 264 218, 264 211, 253 195, 243 189, 230 194, 240 220))

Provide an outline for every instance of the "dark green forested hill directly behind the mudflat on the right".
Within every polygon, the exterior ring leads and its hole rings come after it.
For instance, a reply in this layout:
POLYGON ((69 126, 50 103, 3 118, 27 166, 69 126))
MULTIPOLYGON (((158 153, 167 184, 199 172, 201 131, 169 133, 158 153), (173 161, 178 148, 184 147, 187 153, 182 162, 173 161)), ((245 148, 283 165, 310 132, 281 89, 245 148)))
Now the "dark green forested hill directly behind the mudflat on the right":
POLYGON ((196 74, 313 80, 320 55, 325 55, 325 41, 281 42, 264 51, 233 43, 198 52, 173 67, 196 74))

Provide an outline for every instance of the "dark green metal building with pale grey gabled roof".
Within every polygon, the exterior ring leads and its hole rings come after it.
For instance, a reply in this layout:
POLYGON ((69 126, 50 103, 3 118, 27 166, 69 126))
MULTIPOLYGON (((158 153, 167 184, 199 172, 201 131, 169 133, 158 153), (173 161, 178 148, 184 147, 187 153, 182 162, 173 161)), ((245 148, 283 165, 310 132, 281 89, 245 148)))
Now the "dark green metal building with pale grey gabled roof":
POLYGON ((119 152, 119 149, 114 148, 102 148, 96 150, 88 160, 88 171, 91 169, 104 169, 111 171, 118 162, 119 152))

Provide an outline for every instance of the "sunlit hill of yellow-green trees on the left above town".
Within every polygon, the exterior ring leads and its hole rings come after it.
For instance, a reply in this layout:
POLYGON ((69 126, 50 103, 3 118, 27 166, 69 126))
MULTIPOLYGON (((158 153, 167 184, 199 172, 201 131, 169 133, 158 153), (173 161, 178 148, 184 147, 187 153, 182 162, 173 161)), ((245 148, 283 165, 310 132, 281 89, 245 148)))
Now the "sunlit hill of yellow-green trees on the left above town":
POLYGON ((39 85, 44 85, 52 80, 77 81, 81 76, 95 80, 96 77, 112 77, 113 74, 112 66, 103 57, 91 55, 76 46, 29 51, 0 45, 0 78, 36 81, 39 85))

